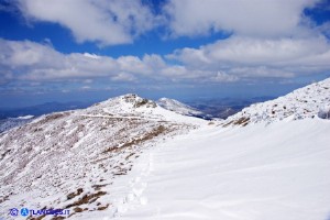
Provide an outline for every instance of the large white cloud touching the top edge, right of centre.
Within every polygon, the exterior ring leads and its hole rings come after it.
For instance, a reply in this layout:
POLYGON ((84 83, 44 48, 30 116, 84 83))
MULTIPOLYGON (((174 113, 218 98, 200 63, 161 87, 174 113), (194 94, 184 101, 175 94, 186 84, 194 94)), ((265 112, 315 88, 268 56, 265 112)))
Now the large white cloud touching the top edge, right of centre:
POLYGON ((174 36, 229 31, 248 36, 305 34, 302 10, 319 0, 169 0, 165 7, 174 36))

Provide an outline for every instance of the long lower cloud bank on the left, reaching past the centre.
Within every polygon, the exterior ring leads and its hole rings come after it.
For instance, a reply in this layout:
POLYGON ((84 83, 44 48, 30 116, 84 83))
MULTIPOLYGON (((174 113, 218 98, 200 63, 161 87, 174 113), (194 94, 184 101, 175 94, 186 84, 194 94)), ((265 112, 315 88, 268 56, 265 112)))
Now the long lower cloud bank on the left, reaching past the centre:
MULTIPOLYGON (((177 66, 168 66, 160 55, 99 56, 89 53, 63 54, 48 44, 31 41, 7 41, 0 38, 0 81, 11 80, 58 81, 95 78, 113 81, 136 81, 141 78, 157 79, 178 74, 177 66)), ((185 72, 183 78, 187 77, 185 72)), ((175 76, 173 76, 175 77, 175 76)))

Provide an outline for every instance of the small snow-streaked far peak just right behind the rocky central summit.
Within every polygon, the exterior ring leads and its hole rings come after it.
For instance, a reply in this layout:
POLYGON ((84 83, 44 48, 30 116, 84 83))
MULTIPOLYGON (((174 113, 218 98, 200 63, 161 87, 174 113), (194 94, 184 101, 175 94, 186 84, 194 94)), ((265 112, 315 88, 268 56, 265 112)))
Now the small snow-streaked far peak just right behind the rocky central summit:
POLYGON ((193 107, 189 107, 188 105, 179 102, 178 100, 175 100, 175 99, 161 98, 156 101, 156 103, 158 106, 163 107, 164 109, 174 111, 174 112, 183 114, 183 116, 210 118, 210 116, 207 116, 206 113, 204 113, 193 107))

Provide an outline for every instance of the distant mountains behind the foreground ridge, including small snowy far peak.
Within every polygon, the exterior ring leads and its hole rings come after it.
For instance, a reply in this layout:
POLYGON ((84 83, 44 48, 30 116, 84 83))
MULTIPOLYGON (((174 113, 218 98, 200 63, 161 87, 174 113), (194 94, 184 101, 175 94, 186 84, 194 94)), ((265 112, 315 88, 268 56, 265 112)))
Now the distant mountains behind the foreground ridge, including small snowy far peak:
MULTIPOLYGON (((257 97, 257 98, 223 98, 223 99, 205 99, 205 100, 194 100, 186 103, 179 102, 175 99, 161 98, 156 102, 168 109, 175 110, 186 116, 194 116, 205 119, 210 118, 221 118, 226 119, 229 116, 232 116, 243 109, 244 107, 250 106, 251 103, 266 101, 272 99, 272 97, 257 97)), ((23 107, 23 108, 0 108, 0 120, 8 118, 19 118, 24 116, 34 116, 38 117, 45 113, 52 113, 57 111, 84 109, 91 106, 94 102, 81 102, 81 101, 72 101, 72 102, 45 102, 42 105, 23 107)))

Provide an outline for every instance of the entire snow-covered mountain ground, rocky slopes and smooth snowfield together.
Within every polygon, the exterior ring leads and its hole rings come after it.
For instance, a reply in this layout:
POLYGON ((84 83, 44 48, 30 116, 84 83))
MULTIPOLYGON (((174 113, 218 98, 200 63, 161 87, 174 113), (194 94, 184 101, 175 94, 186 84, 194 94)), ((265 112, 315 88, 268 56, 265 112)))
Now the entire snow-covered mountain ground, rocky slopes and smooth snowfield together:
POLYGON ((226 121, 136 95, 40 117, 0 134, 0 217, 25 207, 69 219, 327 220, 329 84, 226 121))

